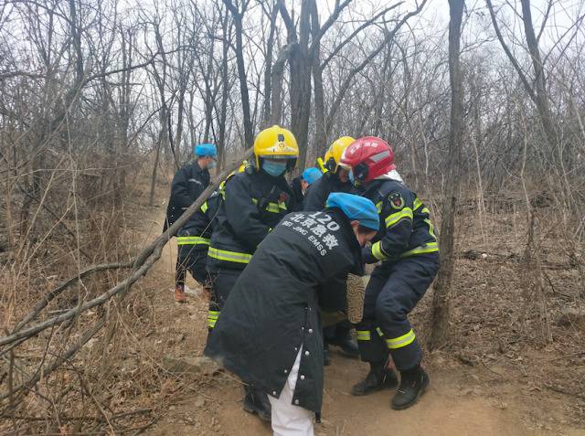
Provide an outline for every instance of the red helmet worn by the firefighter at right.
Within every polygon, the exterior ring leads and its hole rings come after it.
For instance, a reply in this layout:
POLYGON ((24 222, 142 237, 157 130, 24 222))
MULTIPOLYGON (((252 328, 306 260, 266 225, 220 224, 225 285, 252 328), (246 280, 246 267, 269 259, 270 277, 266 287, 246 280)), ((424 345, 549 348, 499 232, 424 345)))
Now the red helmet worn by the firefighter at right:
POLYGON ((396 168, 392 147, 376 136, 356 139, 342 154, 340 165, 351 167, 360 182, 369 182, 396 168))

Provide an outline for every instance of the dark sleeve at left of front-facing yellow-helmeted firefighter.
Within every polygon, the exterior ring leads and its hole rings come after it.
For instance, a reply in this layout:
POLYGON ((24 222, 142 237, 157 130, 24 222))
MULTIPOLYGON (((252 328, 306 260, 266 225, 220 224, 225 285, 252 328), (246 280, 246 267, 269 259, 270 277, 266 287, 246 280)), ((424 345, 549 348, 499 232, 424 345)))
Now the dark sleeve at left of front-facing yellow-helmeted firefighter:
POLYGON ((233 177, 226 184, 224 207, 235 234, 251 250, 256 250, 270 229, 261 221, 258 207, 252 203, 250 189, 243 177, 233 177))

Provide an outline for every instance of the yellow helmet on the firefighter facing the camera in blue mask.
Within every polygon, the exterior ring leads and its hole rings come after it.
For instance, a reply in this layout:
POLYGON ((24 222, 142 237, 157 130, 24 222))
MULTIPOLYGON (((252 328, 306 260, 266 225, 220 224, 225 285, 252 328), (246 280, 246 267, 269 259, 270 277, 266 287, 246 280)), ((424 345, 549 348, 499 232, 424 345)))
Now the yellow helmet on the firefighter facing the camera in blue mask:
POLYGON ((293 133, 276 124, 258 133, 254 141, 256 169, 260 169, 261 157, 291 159, 287 169, 293 169, 299 157, 299 146, 293 133))

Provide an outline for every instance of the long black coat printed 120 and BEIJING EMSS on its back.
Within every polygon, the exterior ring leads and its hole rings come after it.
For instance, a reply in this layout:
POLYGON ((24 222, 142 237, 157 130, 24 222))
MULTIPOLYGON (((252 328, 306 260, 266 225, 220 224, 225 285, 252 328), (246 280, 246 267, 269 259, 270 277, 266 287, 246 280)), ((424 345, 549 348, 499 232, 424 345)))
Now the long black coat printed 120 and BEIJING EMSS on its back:
POLYGON ((205 354, 279 397, 302 346, 293 403, 319 413, 324 367, 318 309, 345 301, 332 278, 359 269, 359 244, 338 209, 286 216, 239 276, 205 354))

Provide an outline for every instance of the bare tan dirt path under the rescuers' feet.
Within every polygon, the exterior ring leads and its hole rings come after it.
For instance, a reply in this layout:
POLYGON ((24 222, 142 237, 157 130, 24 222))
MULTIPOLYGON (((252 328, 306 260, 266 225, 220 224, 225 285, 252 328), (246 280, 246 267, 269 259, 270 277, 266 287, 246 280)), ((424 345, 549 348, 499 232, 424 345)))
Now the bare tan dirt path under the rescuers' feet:
MULTIPOLYGON (((158 222, 163 208, 155 217, 158 222)), ((173 302, 175 260, 172 241, 149 274, 158 323, 166 326, 148 340, 162 344, 164 356, 192 359, 201 355, 205 343, 207 306, 197 297, 187 304, 173 302)), ((196 287, 193 281, 187 285, 196 287)), ((349 389, 366 374, 367 365, 336 352, 332 355, 332 366, 325 368, 318 435, 585 435, 585 430, 569 425, 566 398, 533 391, 527 381, 507 378, 494 367, 468 367, 441 354, 427 356, 429 391, 415 407, 395 411, 389 408, 389 391, 351 397, 349 389)), ((147 434, 270 435, 269 425, 244 412, 240 401, 239 383, 229 374, 199 376, 181 390, 175 405, 147 434)))

